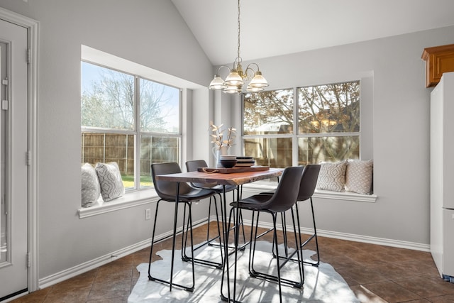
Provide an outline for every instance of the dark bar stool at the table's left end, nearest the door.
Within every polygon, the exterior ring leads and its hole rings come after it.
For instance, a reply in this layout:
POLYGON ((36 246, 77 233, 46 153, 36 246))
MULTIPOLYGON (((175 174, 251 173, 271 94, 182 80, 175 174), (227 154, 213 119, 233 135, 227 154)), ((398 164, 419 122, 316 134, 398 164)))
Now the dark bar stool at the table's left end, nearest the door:
MULTIPOLYGON (((172 291, 172 286, 182 287, 184 290, 192 292, 194 290, 195 285, 195 275, 194 275, 194 263, 204 260, 199 260, 196 258, 191 258, 192 261, 192 285, 181 285, 177 284, 173 281, 173 268, 174 268, 174 260, 175 260, 175 239, 177 236, 177 216, 178 216, 178 205, 177 203, 184 203, 184 218, 183 218, 183 228, 182 228, 182 238, 184 238, 184 225, 185 225, 185 215, 186 215, 186 207, 188 207, 188 223, 187 226, 189 229, 189 233, 191 235, 191 252, 192 256, 194 256, 194 243, 192 237, 192 212, 191 212, 191 203, 200 201, 201 199, 208 199, 213 197, 216 192, 211 189, 196 189, 194 187, 189 186, 189 184, 185 182, 168 182, 162 180, 156 180, 156 175, 167 175, 167 174, 174 174, 182 172, 178 163, 176 162, 167 162, 167 163, 154 163, 151 165, 151 175, 153 177, 153 184, 155 186, 155 190, 160 197, 160 199, 156 203, 156 211, 155 211, 155 222, 153 224, 153 236, 151 240, 151 248, 150 248, 150 262, 148 263, 148 279, 152 281, 158 281, 165 284, 170 285, 170 291, 172 291), (178 192, 178 194, 177 194, 178 192), (151 275, 151 258, 153 256, 153 243, 155 242, 155 231, 156 231, 156 221, 157 221, 157 211, 159 209, 159 204, 161 201, 173 202, 176 203, 175 205, 175 215, 174 215, 174 224, 173 224, 173 243, 172 243, 172 264, 170 265, 170 280, 163 280, 151 275)), ((164 216, 165 219, 168 216, 164 216)), ((187 231, 188 232, 188 231, 187 231)), ((204 264, 206 264, 204 262, 204 264)))

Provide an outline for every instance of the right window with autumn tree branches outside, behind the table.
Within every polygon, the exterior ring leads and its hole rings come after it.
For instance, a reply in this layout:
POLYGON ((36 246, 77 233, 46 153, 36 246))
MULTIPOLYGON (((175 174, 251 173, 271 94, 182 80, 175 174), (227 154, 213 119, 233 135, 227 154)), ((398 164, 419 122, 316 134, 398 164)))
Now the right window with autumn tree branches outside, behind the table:
POLYGON ((360 82, 245 94, 243 146, 270 167, 358 159, 360 82))

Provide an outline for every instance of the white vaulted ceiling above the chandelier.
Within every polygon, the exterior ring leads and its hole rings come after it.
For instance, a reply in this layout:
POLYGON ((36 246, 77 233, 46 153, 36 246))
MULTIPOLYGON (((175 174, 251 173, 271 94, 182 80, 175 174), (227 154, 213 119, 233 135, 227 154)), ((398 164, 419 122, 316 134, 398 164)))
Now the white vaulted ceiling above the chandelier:
MULTIPOLYGON (((235 60, 237 0, 172 2, 213 65, 235 60)), ((454 25, 453 0, 242 0, 240 7, 243 60, 454 25)))

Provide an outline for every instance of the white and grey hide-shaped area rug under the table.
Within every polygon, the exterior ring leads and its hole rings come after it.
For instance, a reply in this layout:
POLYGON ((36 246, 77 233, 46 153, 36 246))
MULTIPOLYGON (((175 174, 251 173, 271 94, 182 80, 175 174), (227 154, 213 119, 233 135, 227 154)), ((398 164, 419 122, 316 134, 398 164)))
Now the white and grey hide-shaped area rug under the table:
MULTIPOLYGON (((255 253, 256 270, 269 270, 276 261, 270 254, 272 249, 271 243, 266 241, 258 242, 258 250, 255 253), (258 265, 262 265, 260 268, 258 265)), ((279 249, 280 252, 280 249, 279 249)), ((312 250, 304 250, 304 260, 309 260, 314 255, 312 250)), ((172 250, 160 250, 163 260, 157 260, 152 263, 151 272, 153 276, 161 279, 170 277, 170 260, 172 250)), ((197 258, 204 260, 220 260, 219 248, 206 246, 196 253, 197 258)), ((267 282, 257 278, 250 277, 248 274, 249 250, 246 248, 238 252, 237 260, 237 283, 236 283, 236 300, 243 303, 258 302, 279 302, 279 289, 277 283, 267 282)), ((231 277, 233 276, 233 255, 229 259, 231 265, 231 277)), ((192 272, 190 263, 181 260, 180 250, 175 251, 175 268, 174 282, 189 285, 192 282, 192 272)), ((196 265, 195 276, 196 284, 194 292, 187 292, 178 287, 173 287, 169 291, 169 285, 160 282, 148 280, 148 263, 138 265, 137 270, 140 272, 138 282, 135 284, 131 295, 128 297, 128 303, 136 302, 223 302, 220 297, 221 293, 221 276, 222 271, 205 265, 196 265)), ((298 277, 298 265, 295 262, 289 262, 281 270, 282 277, 298 277)), ((282 285, 283 302, 359 302, 355 294, 350 290, 343 277, 334 270, 328 263, 320 263, 319 267, 304 265, 304 287, 297 289, 294 287, 282 285)), ((231 280, 233 280, 231 278, 231 280)), ((226 283, 224 283, 223 294, 227 296, 226 283)), ((231 283, 233 289, 233 283, 231 283)), ((231 290, 233 294, 233 290, 231 290)))

